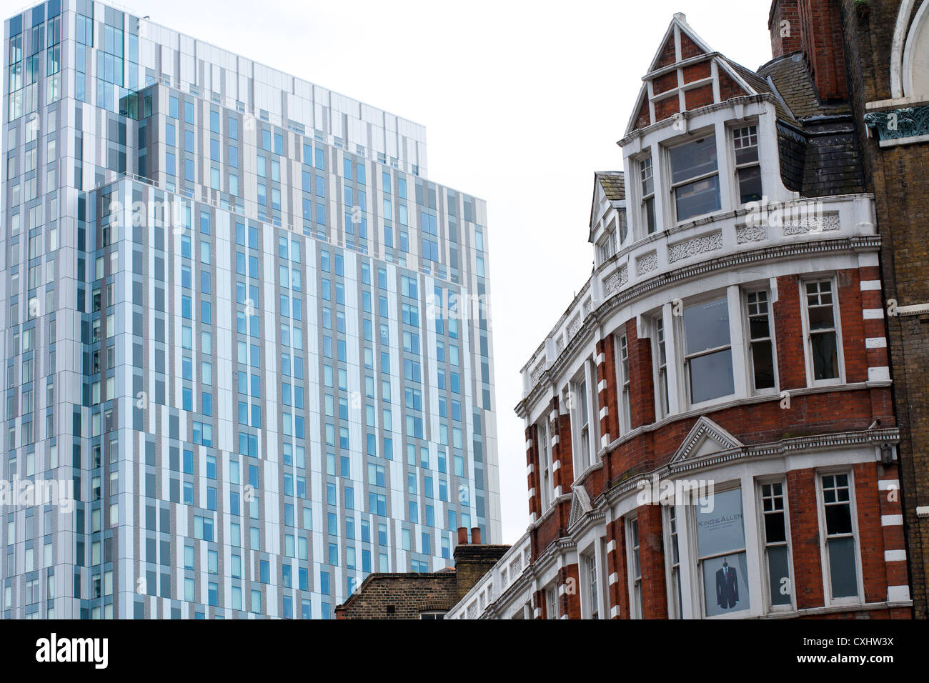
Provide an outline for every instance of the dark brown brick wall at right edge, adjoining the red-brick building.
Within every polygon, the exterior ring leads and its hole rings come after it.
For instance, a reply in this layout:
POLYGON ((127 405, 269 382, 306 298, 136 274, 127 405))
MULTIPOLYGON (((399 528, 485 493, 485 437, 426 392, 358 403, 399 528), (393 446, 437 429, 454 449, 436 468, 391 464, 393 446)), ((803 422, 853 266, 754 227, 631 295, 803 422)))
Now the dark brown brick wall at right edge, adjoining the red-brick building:
MULTIPOLYGON (((881 233, 881 279, 884 299, 900 306, 929 302, 929 144, 881 148, 868 137, 864 116, 868 102, 890 99, 890 55, 899 0, 843 0, 842 20, 848 83, 854 121, 862 148, 868 190, 875 195, 881 233)), ((914 11, 915 11, 914 7, 914 11)), ((910 18, 911 21, 911 18, 910 18)), ((929 567, 929 519, 916 516, 929 505, 929 317, 887 317, 887 353, 894 380, 898 425, 900 499, 907 538, 910 593, 917 618, 929 618, 926 576, 929 567)), ((870 333, 869 333, 870 334, 870 333)), ((885 539, 886 540, 886 539, 885 539)), ((898 549, 898 548, 896 548, 898 549)), ((896 566, 890 584, 905 584, 896 566)))

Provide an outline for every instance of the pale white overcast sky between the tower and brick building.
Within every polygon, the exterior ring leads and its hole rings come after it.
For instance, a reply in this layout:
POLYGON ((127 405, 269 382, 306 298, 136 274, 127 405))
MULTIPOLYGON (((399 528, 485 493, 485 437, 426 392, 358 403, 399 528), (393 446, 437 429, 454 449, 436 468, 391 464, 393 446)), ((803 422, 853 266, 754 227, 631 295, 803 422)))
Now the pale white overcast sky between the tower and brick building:
MULTIPOLYGON (((7 19, 25 2, 0 0, 7 19)), ((590 275, 594 172, 622 138, 674 12, 729 59, 771 59, 768 0, 123 0, 426 127, 428 177, 488 203, 505 543, 526 531, 519 369, 590 275)))

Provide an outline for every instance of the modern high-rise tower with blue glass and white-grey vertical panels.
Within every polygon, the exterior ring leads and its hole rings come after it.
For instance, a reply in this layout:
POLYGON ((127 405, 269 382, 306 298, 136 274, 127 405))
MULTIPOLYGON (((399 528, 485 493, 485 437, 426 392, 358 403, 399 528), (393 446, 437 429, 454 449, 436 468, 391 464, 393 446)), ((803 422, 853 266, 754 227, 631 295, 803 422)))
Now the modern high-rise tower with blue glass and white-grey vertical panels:
POLYGON ((4 56, 4 618, 329 618, 500 541, 486 207, 422 126, 90 0, 4 56))

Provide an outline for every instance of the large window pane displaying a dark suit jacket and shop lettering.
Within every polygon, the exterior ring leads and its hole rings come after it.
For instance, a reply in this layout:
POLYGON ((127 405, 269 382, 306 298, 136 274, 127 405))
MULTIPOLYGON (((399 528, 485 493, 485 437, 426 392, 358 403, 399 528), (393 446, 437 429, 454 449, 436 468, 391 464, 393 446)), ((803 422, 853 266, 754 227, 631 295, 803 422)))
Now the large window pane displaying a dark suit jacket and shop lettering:
POLYGON ((751 605, 741 489, 716 493, 713 511, 697 514, 697 545, 706 616, 748 610, 751 605))

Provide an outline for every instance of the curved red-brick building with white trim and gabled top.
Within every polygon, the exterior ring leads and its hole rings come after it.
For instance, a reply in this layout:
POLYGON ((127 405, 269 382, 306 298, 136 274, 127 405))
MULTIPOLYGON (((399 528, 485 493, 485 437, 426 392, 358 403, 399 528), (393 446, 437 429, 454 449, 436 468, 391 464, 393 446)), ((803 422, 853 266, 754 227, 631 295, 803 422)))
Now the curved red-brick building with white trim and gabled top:
POLYGON ((775 3, 757 72, 674 16, 522 371, 530 530, 450 618, 912 615, 838 9, 775 3))

